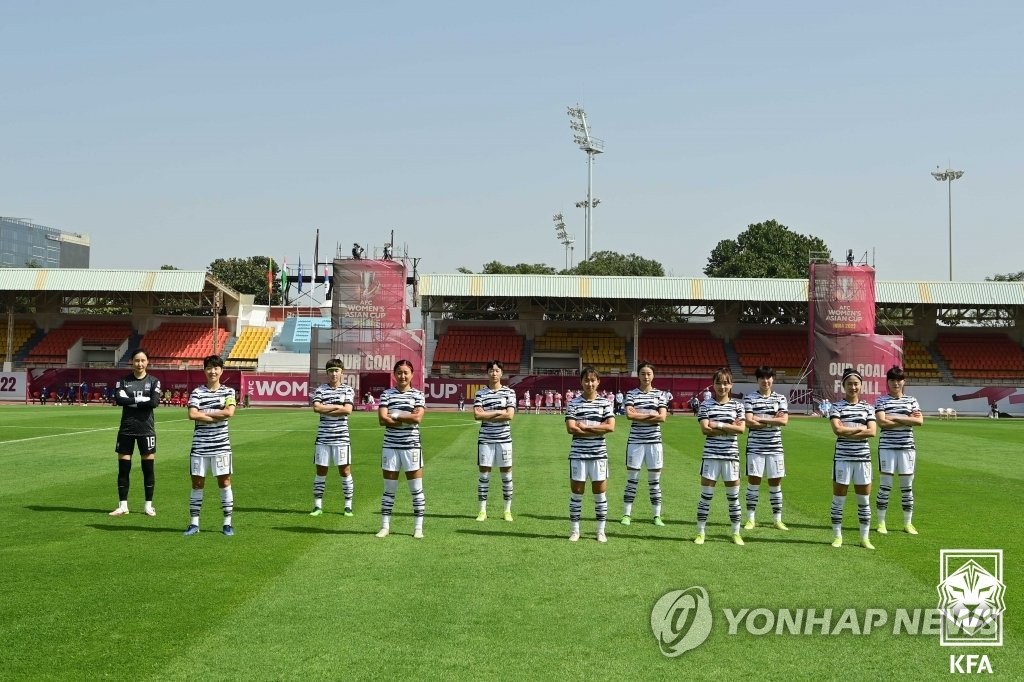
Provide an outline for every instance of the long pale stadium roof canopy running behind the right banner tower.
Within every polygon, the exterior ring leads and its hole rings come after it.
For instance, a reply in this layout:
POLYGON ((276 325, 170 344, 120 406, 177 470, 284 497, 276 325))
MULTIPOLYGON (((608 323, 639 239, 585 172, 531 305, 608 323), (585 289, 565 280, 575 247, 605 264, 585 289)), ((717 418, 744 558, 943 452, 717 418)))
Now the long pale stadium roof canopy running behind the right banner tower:
MULTIPOLYGON (((597 298, 673 304, 806 303, 807 289, 807 280, 565 274, 423 274, 419 282, 424 298, 597 298)), ((1024 305, 1024 282, 876 281, 874 298, 896 305, 1024 305)))

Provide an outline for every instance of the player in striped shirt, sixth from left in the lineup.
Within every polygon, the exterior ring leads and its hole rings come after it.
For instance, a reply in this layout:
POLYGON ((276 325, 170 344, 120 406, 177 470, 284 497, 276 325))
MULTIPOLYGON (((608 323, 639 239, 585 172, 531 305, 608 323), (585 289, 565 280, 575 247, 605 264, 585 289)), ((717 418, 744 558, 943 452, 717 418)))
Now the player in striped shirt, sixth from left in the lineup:
POLYGON ((594 492, 594 515, 597 518, 597 542, 608 542, 604 524, 608 518, 608 446, 604 436, 615 430, 611 401, 597 394, 601 378, 593 367, 580 373, 583 391, 565 410, 565 430, 572 436, 569 445, 569 542, 580 540, 580 517, 587 478, 594 492))

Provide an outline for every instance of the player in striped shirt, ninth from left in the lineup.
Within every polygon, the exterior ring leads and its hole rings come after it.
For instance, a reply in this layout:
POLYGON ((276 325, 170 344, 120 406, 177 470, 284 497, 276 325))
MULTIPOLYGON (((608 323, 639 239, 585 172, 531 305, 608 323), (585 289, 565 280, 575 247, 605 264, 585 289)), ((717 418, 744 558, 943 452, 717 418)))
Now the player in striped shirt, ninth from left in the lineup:
POLYGON ((754 371, 758 390, 743 398, 746 414, 746 523, 743 528, 755 526, 754 513, 761 496, 761 479, 768 476, 768 502, 774 525, 788 530, 782 523, 782 477, 785 461, 782 454, 782 427, 790 423, 790 402, 781 393, 772 390, 775 370, 759 367, 754 371))

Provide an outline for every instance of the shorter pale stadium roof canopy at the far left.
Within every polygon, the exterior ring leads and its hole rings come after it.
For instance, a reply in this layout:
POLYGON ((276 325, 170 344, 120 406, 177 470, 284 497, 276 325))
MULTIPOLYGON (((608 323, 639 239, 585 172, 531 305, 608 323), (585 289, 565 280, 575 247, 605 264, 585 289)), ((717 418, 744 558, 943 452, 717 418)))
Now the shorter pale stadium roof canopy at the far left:
POLYGON ((205 270, 0 268, 0 302, 20 300, 61 308, 177 305, 209 307, 220 292, 233 307, 240 294, 205 270))

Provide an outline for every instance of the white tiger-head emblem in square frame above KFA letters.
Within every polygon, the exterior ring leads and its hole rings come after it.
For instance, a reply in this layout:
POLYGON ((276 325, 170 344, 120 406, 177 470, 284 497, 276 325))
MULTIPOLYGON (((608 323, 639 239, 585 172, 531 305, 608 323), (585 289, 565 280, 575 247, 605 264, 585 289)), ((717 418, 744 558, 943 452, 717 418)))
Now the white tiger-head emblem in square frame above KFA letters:
POLYGON ((942 646, 1002 646, 1002 550, 940 550, 942 646))

